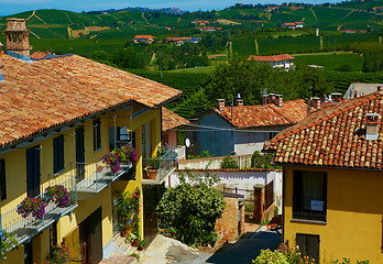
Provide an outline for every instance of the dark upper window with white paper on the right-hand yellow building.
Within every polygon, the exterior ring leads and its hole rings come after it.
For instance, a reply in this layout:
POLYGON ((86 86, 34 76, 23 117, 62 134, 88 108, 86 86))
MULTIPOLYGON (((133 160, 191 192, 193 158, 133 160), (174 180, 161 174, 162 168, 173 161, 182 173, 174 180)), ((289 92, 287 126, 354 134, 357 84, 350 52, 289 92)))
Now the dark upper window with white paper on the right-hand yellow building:
POLYGON ((327 173, 294 172, 293 218, 326 221, 327 173))

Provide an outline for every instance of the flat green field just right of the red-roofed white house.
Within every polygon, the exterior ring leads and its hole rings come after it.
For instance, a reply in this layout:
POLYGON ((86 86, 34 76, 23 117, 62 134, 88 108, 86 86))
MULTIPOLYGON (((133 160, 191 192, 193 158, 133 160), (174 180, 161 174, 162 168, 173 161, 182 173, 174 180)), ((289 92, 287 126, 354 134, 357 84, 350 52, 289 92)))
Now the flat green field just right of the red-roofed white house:
POLYGON ((325 69, 336 70, 343 65, 350 65, 352 72, 361 72, 363 57, 353 53, 311 53, 295 54, 296 64, 320 65, 325 69))

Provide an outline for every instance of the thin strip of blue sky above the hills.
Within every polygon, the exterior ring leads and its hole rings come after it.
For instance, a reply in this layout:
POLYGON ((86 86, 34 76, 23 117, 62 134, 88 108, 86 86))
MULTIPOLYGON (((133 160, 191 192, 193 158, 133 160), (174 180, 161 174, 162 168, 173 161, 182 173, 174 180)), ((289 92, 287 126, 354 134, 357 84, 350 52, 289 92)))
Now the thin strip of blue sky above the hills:
MULTIPOLYGON (((9 15, 39 9, 61 9, 69 11, 98 11, 122 8, 179 8, 187 11, 221 10, 234 3, 283 3, 286 0, 0 0, 0 15, 9 15)), ((327 0, 295 0, 294 2, 321 3, 327 0)), ((331 1, 330 1, 331 2, 331 1)), ((332 1, 333 2, 333 1, 332 1)))

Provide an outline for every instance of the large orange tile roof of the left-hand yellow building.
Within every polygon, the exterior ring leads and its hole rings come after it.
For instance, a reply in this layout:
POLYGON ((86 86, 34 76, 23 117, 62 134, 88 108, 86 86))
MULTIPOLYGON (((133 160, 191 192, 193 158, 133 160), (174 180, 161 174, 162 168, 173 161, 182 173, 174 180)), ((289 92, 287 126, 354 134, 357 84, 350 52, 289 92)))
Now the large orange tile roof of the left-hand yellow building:
POLYGON ((0 147, 130 101, 157 108, 182 95, 76 55, 33 63, 8 55, 0 59, 0 147))

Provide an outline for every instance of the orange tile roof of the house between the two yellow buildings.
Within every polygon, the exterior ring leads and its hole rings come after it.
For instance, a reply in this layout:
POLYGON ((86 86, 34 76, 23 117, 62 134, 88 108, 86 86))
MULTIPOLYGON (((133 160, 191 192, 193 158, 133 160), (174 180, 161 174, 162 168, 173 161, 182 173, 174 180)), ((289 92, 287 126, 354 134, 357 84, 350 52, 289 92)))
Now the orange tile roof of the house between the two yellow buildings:
POLYGON ((267 103, 240 106, 233 109, 233 117, 231 117, 231 107, 226 107, 225 111, 218 109, 214 111, 237 128, 292 125, 307 116, 307 105, 303 99, 284 101, 281 108, 274 103, 267 103))

